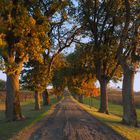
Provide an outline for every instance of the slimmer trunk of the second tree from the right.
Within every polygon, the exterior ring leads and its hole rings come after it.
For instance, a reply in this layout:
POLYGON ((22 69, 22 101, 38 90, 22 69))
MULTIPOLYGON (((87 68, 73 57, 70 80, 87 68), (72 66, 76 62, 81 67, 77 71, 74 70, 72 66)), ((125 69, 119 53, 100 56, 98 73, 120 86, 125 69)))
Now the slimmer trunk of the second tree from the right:
POLYGON ((107 82, 105 79, 102 79, 100 82, 100 108, 99 112, 109 114, 108 112, 108 95, 106 92, 107 89, 107 82))

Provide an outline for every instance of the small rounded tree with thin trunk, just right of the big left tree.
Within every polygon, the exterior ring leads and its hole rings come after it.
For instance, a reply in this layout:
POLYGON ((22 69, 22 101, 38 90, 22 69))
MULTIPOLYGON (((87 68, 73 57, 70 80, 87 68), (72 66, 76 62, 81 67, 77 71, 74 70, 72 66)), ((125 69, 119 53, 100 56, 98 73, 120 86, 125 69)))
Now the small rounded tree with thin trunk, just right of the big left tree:
POLYGON ((39 61, 29 61, 24 65, 25 69, 21 74, 22 86, 34 91, 35 97, 35 110, 40 110, 41 94, 46 89, 46 83, 49 82, 48 78, 48 65, 39 61))

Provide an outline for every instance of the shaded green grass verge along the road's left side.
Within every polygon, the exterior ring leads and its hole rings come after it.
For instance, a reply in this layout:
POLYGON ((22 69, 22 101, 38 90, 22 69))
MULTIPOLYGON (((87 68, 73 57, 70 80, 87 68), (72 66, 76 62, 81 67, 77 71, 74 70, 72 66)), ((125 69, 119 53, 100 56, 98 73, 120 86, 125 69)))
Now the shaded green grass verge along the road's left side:
POLYGON ((0 106, 0 140, 8 140, 16 135, 23 129, 34 125, 39 120, 43 119, 49 112, 49 110, 57 103, 57 99, 51 98, 51 105, 42 106, 40 111, 34 110, 34 101, 28 100, 22 103, 22 112, 26 117, 22 121, 6 122, 4 120, 3 105, 0 106))

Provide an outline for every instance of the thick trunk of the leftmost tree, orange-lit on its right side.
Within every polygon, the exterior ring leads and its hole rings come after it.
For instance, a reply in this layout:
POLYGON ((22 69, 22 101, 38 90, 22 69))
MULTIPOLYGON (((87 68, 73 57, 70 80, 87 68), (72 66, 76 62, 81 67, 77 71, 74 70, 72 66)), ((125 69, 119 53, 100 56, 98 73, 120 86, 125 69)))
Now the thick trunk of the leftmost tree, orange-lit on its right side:
POLYGON ((20 120, 23 116, 19 97, 19 75, 7 75, 6 87, 6 119, 8 121, 20 120))

